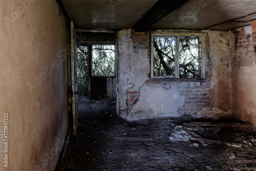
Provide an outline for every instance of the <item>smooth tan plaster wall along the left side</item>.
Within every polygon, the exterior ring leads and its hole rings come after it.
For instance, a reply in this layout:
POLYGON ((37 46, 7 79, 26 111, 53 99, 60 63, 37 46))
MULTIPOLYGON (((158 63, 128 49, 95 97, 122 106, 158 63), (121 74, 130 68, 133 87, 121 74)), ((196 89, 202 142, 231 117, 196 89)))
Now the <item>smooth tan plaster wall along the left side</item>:
POLYGON ((67 20, 55 1, 10 0, 0 6, 0 170, 54 170, 68 130, 67 20))

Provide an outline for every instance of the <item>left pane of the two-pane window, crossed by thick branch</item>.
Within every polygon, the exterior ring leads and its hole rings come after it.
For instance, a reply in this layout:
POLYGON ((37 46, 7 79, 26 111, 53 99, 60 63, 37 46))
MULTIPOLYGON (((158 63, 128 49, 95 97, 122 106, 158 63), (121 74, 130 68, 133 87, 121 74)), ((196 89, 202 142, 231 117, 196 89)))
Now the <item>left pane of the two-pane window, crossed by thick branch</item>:
POLYGON ((175 77, 175 37, 154 38, 154 75, 175 77))

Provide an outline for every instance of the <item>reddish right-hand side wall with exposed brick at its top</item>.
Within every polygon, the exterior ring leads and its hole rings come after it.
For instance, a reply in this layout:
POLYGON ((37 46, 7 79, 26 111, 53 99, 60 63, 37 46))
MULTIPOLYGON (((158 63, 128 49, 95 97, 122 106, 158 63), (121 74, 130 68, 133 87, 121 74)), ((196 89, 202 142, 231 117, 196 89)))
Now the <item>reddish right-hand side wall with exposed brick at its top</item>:
POLYGON ((256 56, 253 47, 256 22, 251 26, 233 30, 236 51, 232 61, 231 108, 234 117, 256 124, 256 56))

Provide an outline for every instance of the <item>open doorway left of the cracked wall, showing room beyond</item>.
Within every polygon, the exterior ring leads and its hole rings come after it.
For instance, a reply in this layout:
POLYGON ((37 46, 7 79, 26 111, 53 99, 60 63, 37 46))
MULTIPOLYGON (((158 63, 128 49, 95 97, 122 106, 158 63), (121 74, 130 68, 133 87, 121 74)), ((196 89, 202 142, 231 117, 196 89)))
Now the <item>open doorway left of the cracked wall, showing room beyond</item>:
POLYGON ((116 34, 76 32, 78 94, 116 99, 116 34))

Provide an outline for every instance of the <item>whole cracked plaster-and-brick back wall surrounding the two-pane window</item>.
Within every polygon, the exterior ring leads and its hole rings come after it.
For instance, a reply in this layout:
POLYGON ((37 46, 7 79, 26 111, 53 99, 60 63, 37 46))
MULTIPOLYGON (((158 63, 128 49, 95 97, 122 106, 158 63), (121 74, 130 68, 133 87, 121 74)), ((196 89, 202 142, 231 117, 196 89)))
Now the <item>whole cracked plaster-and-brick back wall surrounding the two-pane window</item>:
MULTIPOLYGON (((179 34, 193 31, 167 32, 179 34)), ((150 33, 134 32, 132 29, 118 32, 117 91, 121 117, 138 120, 163 116, 229 115, 230 53, 234 48, 234 35, 224 31, 195 32, 204 35, 202 41, 207 50, 203 66, 205 77, 198 79, 151 78, 150 33), (224 96, 220 97, 223 92, 224 96), (203 108, 205 113, 201 113, 203 108), (217 109, 221 113, 216 113, 217 109)))

